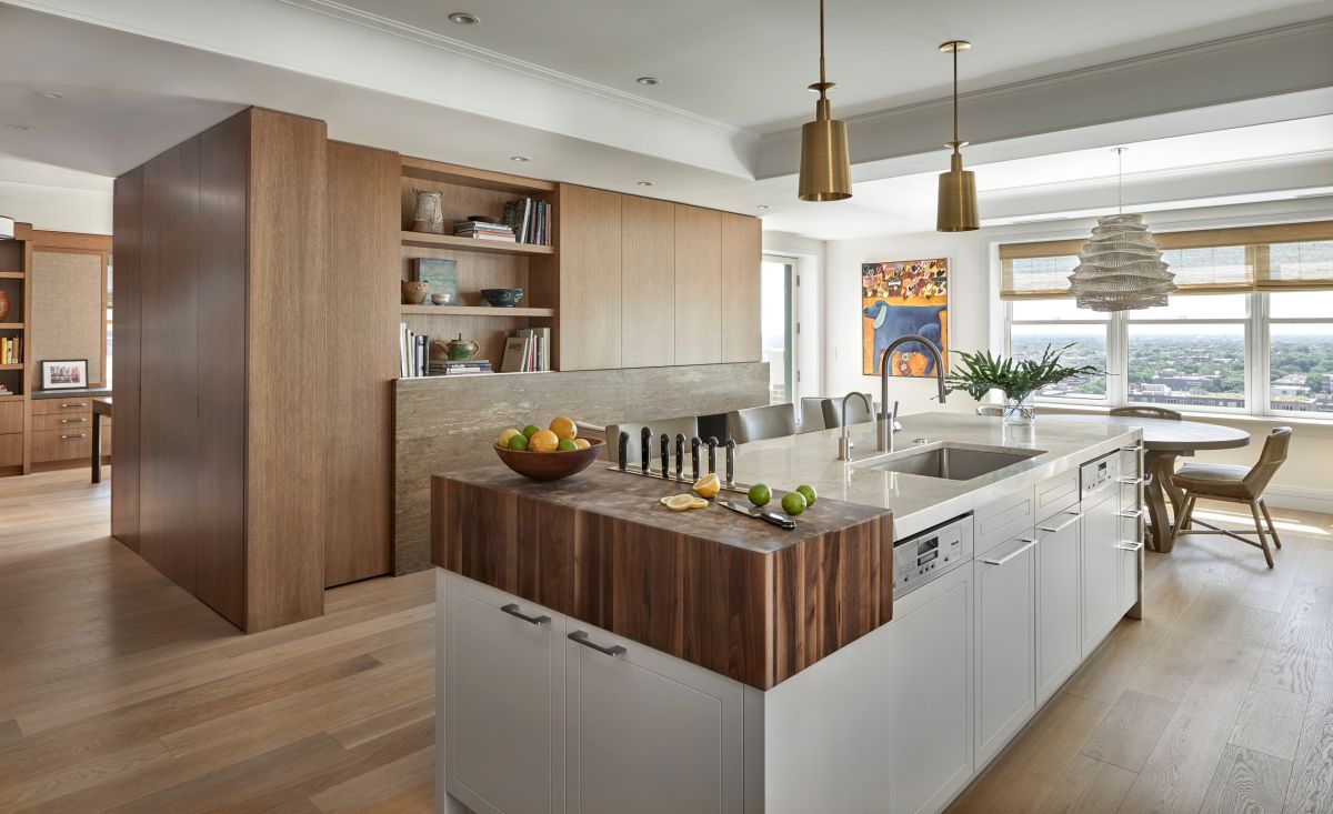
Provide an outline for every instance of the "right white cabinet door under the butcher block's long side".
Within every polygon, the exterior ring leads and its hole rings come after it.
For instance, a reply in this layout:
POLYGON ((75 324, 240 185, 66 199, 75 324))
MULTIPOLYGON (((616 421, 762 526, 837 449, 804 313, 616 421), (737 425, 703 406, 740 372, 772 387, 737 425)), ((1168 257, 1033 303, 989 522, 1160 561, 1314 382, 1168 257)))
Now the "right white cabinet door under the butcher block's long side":
POLYGON ((744 689, 700 666, 569 622, 569 814, 741 814, 744 689))

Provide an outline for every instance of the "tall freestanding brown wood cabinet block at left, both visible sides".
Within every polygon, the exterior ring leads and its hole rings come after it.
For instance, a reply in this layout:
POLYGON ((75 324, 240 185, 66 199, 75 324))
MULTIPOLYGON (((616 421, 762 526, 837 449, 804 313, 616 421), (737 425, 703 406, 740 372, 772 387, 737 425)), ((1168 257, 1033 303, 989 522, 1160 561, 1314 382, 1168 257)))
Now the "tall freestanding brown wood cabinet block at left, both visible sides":
POLYGON ((247 631, 323 613, 325 173, 252 108, 116 181, 112 533, 247 631))

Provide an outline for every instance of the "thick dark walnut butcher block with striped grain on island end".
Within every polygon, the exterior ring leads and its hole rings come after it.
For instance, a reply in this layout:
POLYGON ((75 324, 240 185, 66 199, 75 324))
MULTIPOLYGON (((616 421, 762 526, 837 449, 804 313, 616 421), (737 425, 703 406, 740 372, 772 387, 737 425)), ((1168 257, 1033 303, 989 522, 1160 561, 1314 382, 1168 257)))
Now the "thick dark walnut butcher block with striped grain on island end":
POLYGON ((760 690, 892 617, 889 510, 821 497, 785 532, 672 512, 659 498, 688 486, 603 466, 553 484, 500 464, 433 476, 432 561, 760 690))

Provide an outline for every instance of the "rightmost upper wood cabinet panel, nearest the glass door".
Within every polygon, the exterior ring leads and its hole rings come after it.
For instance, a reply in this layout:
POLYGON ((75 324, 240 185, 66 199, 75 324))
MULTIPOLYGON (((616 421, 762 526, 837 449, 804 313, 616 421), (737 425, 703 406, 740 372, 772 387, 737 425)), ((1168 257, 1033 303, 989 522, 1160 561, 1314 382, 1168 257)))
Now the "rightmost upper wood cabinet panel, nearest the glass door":
POLYGON ((722 213, 722 361, 760 360, 760 221, 722 213))

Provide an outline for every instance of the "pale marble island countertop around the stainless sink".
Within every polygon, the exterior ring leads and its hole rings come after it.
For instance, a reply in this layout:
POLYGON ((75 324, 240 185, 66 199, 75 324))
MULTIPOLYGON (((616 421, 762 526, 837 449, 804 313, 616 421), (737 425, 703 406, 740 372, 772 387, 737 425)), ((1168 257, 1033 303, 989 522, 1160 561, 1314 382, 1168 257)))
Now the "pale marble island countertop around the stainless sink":
POLYGON ((1005 428, 998 418, 961 413, 920 413, 900 421, 902 432, 894 440, 897 452, 913 448, 917 438, 1042 452, 969 481, 880 472, 858 466, 858 462, 885 454, 876 450, 878 425, 858 424, 850 428, 854 444, 850 464, 837 460, 842 430, 829 429, 737 446, 736 480, 764 482, 782 490, 809 484, 821 497, 892 509, 893 534, 901 540, 1014 489, 1134 444, 1142 434, 1132 426, 1060 421, 1058 416, 1044 416, 1030 428, 1005 428))

